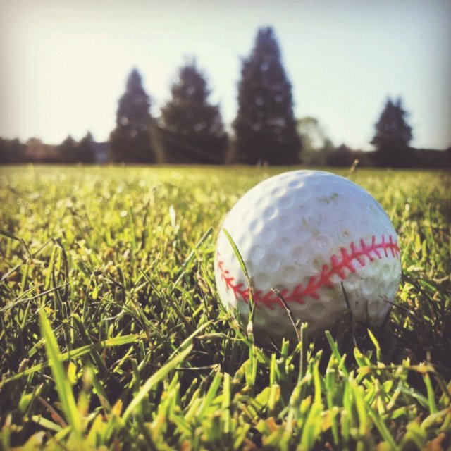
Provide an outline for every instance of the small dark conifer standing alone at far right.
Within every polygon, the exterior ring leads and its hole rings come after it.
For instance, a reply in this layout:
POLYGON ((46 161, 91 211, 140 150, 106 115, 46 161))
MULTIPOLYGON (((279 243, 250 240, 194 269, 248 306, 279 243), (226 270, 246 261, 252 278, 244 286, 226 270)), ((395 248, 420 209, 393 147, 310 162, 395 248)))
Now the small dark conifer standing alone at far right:
POLYGON ((376 159, 379 166, 411 166, 412 128, 407 124, 407 111, 402 107, 401 99, 396 102, 389 98, 376 123, 376 133, 371 144, 376 147, 376 159))

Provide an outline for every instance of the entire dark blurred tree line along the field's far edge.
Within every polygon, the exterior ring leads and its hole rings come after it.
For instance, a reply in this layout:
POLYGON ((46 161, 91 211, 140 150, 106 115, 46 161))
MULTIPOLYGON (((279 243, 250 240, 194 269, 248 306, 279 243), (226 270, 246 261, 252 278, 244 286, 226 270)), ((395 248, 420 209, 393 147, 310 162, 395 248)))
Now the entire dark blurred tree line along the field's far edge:
POLYGON ((135 68, 118 101, 116 127, 108 148, 90 133, 80 142, 72 137, 59 146, 37 139, 25 144, 0 140, 0 163, 299 163, 347 166, 359 158, 364 166, 450 166, 447 152, 413 149, 412 128, 402 100, 388 99, 375 125, 375 152, 359 152, 345 144, 335 147, 315 118, 296 120, 292 85, 283 67, 280 47, 271 27, 258 30, 254 47, 242 60, 237 116, 226 131, 211 89, 195 60, 178 70, 171 98, 153 117, 152 99, 135 68), (100 155, 100 158, 99 158, 100 155))

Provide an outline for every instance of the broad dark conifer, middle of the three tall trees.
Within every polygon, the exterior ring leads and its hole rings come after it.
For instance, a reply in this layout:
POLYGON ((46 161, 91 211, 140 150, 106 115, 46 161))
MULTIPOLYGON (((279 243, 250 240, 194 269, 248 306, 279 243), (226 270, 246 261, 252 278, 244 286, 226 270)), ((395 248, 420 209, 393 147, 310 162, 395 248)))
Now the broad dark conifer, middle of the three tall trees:
POLYGON ((217 105, 209 103, 205 75, 195 61, 178 71, 171 100, 161 109, 161 137, 167 163, 223 163, 228 143, 217 105))

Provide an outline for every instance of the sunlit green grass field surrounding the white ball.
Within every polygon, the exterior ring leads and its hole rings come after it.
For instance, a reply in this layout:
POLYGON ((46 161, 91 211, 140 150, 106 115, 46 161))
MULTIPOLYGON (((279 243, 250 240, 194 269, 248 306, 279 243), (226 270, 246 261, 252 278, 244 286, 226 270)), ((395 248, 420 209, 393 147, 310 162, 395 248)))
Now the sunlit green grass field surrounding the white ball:
POLYGON ((450 175, 351 176, 400 237, 388 325, 262 349, 214 248, 280 171, 0 168, 0 449, 450 449, 450 175))

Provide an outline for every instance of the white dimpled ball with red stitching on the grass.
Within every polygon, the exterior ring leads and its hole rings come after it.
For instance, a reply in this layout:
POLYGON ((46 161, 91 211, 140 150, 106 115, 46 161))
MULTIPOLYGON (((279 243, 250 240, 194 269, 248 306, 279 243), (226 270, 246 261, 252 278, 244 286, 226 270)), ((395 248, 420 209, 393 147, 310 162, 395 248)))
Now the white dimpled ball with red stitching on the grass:
MULTIPOLYGON (((233 206, 223 229, 249 273, 257 338, 295 337, 272 288, 313 335, 345 313, 342 285, 357 321, 378 326, 388 314, 401 275, 397 235, 381 205, 350 180, 323 171, 268 178, 233 206)), ((247 321, 248 283, 223 230, 215 276, 223 304, 247 321)))

